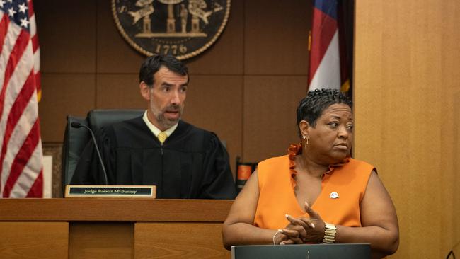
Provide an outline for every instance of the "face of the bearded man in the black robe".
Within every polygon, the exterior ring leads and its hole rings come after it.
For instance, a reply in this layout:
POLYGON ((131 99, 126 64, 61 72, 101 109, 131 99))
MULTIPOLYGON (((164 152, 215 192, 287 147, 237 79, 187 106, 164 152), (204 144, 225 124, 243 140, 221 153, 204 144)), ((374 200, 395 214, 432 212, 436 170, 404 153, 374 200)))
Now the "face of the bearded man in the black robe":
POLYGON ((185 105, 187 85, 187 75, 182 76, 166 67, 154 74, 153 87, 141 83, 142 96, 149 100, 147 116, 153 125, 164 131, 178 123, 185 105))

